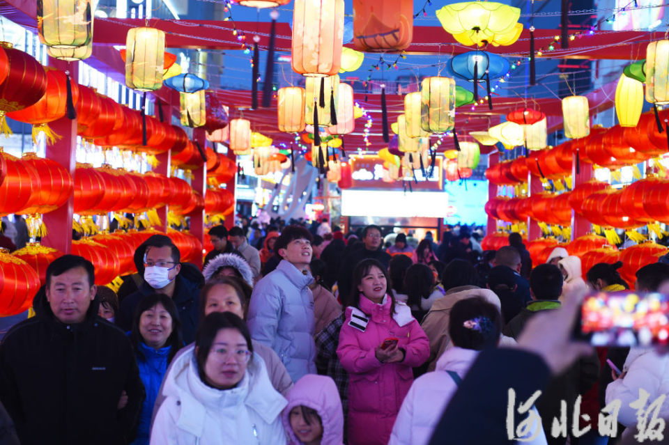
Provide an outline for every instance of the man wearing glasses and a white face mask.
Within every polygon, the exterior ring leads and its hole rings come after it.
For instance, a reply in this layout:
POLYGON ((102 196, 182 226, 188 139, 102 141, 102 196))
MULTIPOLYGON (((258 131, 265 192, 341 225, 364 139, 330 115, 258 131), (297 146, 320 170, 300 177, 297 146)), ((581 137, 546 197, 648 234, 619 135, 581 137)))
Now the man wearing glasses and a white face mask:
MULTIPOLYGON (((116 325, 130 331, 134 311, 141 299, 157 292, 172 299, 181 320, 183 340, 191 343, 195 339, 198 323, 197 301, 201 283, 190 278, 192 275, 187 278, 183 274, 179 249, 169 237, 153 235, 141 244, 140 249, 144 249, 143 270, 140 271, 140 267, 137 270, 143 273, 144 283, 139 290, 123 299, 116 315, 116 325)), ((199 278, 203 281, 201 274, 199 278)))

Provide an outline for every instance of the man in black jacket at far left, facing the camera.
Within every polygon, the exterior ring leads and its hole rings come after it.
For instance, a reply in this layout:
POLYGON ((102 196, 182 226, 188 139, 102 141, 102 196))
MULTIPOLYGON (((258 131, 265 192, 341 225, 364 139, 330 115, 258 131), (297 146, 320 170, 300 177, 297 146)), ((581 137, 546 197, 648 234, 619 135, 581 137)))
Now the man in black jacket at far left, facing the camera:
POLYGON ((36 316, 0 345, 0 401, 23 445, 122 445, 134 439, 144 387, 130 341, 98 317, 93 265, 47 267, 36 316))

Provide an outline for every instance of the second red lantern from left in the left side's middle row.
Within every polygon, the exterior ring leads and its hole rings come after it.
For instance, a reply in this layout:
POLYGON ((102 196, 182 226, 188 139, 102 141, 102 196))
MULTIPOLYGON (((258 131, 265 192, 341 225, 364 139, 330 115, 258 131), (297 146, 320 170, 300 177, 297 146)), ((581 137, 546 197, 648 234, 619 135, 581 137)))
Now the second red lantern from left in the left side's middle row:
POLYGON ((26 153, 22 161, 32 166, 37 173, 34 190, 36 200, 22 212, 26 214, 47 213, 56 210, 68 201, 75 183, 65 167, 52 159, 38 157, 35 153, 26 153))

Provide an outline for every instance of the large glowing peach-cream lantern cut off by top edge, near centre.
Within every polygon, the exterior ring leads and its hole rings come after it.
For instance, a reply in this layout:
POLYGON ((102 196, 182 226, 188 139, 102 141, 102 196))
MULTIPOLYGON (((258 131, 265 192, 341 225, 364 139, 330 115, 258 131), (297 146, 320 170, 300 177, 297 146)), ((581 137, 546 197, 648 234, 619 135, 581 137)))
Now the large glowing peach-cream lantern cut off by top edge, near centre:
POLYGON ((343 40, 344 0, 295 0, 293 71, 313 77, 337 74, 343 40))

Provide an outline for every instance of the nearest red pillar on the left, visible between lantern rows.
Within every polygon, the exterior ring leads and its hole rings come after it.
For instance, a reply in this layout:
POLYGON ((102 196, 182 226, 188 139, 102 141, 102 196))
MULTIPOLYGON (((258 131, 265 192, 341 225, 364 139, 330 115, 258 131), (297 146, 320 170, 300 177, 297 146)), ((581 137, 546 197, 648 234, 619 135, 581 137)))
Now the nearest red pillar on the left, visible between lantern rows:
MULTIPOLYGON (((79 63, 68 63, 60 61, 57 58, 49 57, 49 66, 58 70, 70 72, 70 79, 79 78, 79 63)), ((70 120, 63 116, 54 122, 49 123, 49 127, 61 136, 54 143, 49 143, 47 139, 46 157, 61 164, 65 169, 75 177, 75 164, 77 153, 77 119, 70 120)), ((72 214, 75 208, 75 195, 72 192, 68 201, 52 212, 45 213, 42 217, 47 235, 43 238, 42 244, 46 247, 52 247, 63 253, 72 251, 72 214)))

